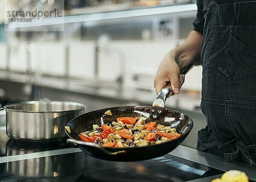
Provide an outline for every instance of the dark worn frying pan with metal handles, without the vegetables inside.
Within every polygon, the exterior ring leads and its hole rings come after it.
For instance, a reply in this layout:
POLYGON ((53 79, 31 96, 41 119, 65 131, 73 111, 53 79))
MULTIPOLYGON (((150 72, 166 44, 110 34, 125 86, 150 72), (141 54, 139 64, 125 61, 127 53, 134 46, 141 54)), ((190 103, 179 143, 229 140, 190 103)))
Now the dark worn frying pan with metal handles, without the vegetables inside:
POLYGON ((67 143, 72 147, 80 148, 90 156, 111 161, 139 161, 168 154, 183 142, 193 127, 192 119, 186 114, 180 111, 163 108, 170 91, 169 86, 163 88, 157 95, 153 106, 119 106, 105 108, 85 113, 72 119, 66 125, 70 127, 71 131, 70 134, 66 131, 69 137, 67 143), (105 111, 108 110, 111 111, 112 116, 104 114, 105 111), (161 124, 176 128, 176 131, 181 136, 177 139, 160 144, 125 148, 101 147, 95 143, 82 142, 79 140, 79 134, 84 131, 92 130, 92 125, 111 124, 113 121, 116 121, 117 117, 139 116, 146 117, 146 122, 156 122, 156 125, 161 124))

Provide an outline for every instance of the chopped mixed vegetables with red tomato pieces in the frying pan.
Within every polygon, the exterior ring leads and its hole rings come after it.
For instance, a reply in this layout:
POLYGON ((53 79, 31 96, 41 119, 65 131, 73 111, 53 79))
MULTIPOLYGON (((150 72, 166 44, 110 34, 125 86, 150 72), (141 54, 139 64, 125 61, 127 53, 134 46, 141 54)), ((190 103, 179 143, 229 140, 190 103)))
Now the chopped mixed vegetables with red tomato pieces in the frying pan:
MULTIPOLYGON (((146 119, 118 117, 116 122, 102 124, 102 127, 93 125, 93 130, 82 132, 79 136, 84 142, 119 148, 154 145, 180 137, 175 128, 160 124, 156 126, 156 122, 145 123, 146 119)), ((68 130, 67 127, 65 129, 68 130)))

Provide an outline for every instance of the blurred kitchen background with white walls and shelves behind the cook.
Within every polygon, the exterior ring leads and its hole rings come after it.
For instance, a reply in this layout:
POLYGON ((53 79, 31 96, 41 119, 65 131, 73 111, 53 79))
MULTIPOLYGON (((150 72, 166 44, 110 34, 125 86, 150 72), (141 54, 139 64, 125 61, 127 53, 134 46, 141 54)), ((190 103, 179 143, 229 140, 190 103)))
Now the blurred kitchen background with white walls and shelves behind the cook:
MULTIPOLYGON (((64 8, 61 18, 17 26, 0 14, 0 103, 68 100, 87 111, 151 105, 154 75, 163 57, 192 30, 191 0, 8 0, 15 11, 64 8), (12 28, 12 29, 10 29, 12 28)), ((0 0, 4 12, 5 0, 0 0)), ((200 110, 201 66, 186 74, 167 108, 195 126, 183 145, 196 146, 206 125, 200 110)))

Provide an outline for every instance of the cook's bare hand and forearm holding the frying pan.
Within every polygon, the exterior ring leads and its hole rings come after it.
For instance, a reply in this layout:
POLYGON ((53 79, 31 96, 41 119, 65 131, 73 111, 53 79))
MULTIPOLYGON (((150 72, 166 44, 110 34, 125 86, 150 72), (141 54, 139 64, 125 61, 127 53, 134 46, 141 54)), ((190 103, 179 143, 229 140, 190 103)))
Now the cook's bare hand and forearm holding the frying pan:
POLYGON ((154 88, 158 94, 166 85, 171 82, 172 91, 168 97, 180 92, 180 87, 184 83, 184 74, 180 74, 180 69, 189 65, 201 64, 201 44, 203 35, 192 30, 184 43, 170 51, 160 64, 154 79, 154 88))

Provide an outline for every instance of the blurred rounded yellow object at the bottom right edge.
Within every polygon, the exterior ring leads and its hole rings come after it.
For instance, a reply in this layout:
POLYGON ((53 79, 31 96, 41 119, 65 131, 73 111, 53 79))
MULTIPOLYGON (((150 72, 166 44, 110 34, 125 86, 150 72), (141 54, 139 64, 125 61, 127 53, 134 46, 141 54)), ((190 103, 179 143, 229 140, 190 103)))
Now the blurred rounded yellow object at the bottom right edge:
POLYGON ((221 178, 213 179, 212 182, 249 182, 249 179, 242 171, 230 170, 224 173, 221 178))

